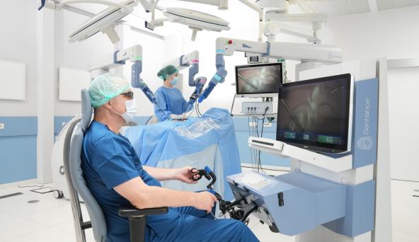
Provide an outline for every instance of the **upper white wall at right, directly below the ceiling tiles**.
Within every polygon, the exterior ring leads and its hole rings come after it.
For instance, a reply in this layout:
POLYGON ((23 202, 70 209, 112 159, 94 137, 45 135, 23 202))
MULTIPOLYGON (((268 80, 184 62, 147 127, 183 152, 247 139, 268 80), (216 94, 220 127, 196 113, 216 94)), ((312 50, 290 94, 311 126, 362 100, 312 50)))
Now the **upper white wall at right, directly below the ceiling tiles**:
POLYGON ((329 18, 326 28, 345 61, 419 57, 419 6, 329 18))

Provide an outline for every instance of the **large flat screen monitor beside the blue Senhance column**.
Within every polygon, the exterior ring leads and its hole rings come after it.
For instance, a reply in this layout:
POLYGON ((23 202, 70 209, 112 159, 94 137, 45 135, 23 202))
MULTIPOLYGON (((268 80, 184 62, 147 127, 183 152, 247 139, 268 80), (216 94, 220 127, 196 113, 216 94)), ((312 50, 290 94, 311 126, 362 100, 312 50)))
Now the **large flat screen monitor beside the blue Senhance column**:
POLYGON ((311 151, 350 151, 350 74, 280 84, 277 140, 311 151))

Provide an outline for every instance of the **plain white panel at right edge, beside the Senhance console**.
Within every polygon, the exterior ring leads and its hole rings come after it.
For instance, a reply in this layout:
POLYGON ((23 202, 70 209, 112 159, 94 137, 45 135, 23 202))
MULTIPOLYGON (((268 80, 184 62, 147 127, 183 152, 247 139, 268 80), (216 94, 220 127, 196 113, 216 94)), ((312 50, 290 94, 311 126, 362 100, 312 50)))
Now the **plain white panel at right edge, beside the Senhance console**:
POLYGON ((389 69, 388 79, 391 179, 419 181, 419 67, 389 69))

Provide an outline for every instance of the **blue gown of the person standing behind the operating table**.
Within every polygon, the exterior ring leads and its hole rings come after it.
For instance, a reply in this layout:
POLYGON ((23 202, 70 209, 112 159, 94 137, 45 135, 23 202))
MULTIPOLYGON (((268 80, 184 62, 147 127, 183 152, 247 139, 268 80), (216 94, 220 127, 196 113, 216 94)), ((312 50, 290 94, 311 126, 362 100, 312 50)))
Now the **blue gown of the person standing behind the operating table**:
POLYGON ((181 115, 193 109, 194 100, 187 102, 178 88, 161 86, 154 93, 154 96, 156 96, 156 103, 164 112, 154 104, 154 114, 159 118, 159 122, 167 120, 167 117, 170 117, 171 114, 181 115))

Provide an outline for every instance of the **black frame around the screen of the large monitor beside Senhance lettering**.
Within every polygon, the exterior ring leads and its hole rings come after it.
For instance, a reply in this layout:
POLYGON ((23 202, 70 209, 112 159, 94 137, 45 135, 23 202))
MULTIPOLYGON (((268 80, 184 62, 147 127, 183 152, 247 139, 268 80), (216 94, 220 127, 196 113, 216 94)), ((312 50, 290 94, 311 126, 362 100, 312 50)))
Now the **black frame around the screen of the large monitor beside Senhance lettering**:
POLYGON ((302 149, 309 149, 310 151, 316 151, 321 153, 329 153, 329 154, 339 154, 339 153, 345 153, 350 151, 351 148, 351 139, 352 139, 352 100, 353 100, 353 86, 354 81, 351 74, 339 74, 335 76, 324 76, 321 78, 316 79, 308 79, 304 81, 294 81, 290 83, 281 83, 280 88, 278 90, 278 107, 277 107, 277 118, 280 119, 280 100, 282 98, 281 92, 283 86, 299 86, 304 84, 310 84, 310 83, 321 83, 323 81, 331 81, 335 79, 345 79, 346 81, 346 95, 348 102, 346 103, 346 113, 347 117, 345 120, 345 139, 343 144, 326 144, 326 143, 319 143, 319 142, 309 142, 309 141, 299 141, 294 142, 294 139, 287 139, 285 137, 278 137, 278 131, 280 129, 280 126, 277 125, 277 131, 276 131, 276 140, 280 142, 285 142, 286 144, 291 144, 293 146, 300 147, 302 149))

